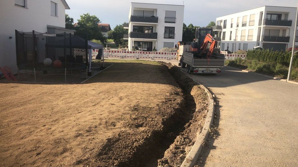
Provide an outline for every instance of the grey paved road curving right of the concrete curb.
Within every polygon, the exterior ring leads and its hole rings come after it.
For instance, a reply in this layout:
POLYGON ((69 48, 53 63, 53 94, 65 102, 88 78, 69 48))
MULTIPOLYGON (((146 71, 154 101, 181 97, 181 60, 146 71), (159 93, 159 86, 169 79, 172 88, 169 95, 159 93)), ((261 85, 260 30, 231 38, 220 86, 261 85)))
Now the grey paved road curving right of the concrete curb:
POLYGON ((230 67, 192 77, 219 100, 205 166, 298 166, 298 85, 230 67))

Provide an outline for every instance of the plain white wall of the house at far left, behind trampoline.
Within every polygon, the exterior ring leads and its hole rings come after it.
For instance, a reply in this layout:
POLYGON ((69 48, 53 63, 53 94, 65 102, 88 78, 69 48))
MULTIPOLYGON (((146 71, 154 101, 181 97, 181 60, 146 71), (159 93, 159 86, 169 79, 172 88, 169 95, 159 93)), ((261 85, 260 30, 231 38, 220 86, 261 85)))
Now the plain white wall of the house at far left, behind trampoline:
POLYGON ((0 67, 17 73, 15 30, 23 32, 74 33, 65 29, 65 0, 0 1, 0 67))

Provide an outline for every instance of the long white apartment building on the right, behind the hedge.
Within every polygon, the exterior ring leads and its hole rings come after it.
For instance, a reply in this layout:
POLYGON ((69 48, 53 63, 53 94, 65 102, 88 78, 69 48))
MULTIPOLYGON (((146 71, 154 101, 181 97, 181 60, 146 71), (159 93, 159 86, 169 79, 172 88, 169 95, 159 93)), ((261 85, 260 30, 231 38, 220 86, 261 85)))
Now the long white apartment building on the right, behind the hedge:
MULTIPOLYGON (((216 18, 214 31, 220 50, 248 50, 255 46, 285 50, 293 45, 296 7, 262 6, 216 18), (236 41, 235 41, 236 39, 236 41), (236 44, 236 46, 235 46, 236 44)), ((296 41, 298 41, 296 39, 296 41)), ((298 45, 298 42, 295 43, 298 45)))

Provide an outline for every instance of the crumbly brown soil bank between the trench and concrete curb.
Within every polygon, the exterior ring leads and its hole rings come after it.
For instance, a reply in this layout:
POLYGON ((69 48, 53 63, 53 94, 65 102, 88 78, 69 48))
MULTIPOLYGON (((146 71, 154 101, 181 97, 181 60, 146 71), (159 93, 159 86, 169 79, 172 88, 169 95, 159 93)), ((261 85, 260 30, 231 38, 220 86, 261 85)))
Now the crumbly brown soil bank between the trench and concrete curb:
POLYGON ((165 151, 164 157, 158 160, 159 166, 180 166, 196 142, 197 131, 201 131, 204 126, 208 113, 209 99, 204 89, 200 88, 196 82, 179 70, 177 66, 164 62, 162 64, 169 67, 170 73, 184 90, 188 104, 193 106, 191 103, 195 102, 195 108, 191 109, 192 115, 190 115, 189 122, 185 124, 184 130, 176 137, 169 149, 165 151))

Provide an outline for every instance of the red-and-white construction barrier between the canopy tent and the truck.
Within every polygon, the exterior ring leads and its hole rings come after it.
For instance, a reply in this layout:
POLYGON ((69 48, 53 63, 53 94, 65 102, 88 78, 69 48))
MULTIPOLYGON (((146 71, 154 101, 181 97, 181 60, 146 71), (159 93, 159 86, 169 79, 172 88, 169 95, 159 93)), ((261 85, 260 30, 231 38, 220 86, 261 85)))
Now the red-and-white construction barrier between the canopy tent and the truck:
POLYGON ((104 50, 104 57, 176 59, 176 52, 104 50))

